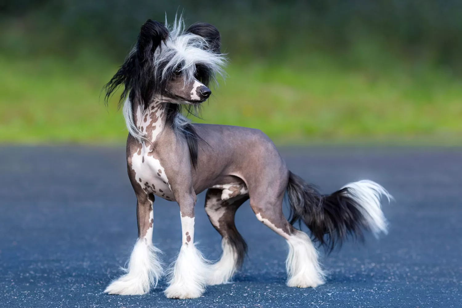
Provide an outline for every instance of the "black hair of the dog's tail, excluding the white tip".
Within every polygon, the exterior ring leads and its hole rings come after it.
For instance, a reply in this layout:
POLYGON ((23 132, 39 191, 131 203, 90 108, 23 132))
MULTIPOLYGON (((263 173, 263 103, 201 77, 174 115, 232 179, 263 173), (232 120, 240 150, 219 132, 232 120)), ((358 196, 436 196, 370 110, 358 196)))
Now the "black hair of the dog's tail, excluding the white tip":
POLYGON ((315 186, 289 172, 289 221, 291 224, 303 221, 310 228, 314 240, 319 241, 328 252, 337 245, 340 247, 348 237, 363 241, 363 229, 370 227, 359 210, 361 205, 352 195, 348 188, 322 195, 315 186))

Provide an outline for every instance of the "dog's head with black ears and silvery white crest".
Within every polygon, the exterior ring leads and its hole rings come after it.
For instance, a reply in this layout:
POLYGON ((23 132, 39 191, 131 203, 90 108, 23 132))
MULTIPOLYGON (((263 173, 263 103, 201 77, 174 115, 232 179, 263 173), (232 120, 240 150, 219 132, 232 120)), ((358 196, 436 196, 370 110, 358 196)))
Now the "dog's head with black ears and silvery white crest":
POLYGON ((222 73, 220 34, 211 24, 196 23, 185 29, 181 18, 171 27, 149 19, 141 26, 136 46, 106 85, 108 99, 124 85, 127 96, 144 109, 152 100, 198 104, 212 91, 209 83, 222 73))

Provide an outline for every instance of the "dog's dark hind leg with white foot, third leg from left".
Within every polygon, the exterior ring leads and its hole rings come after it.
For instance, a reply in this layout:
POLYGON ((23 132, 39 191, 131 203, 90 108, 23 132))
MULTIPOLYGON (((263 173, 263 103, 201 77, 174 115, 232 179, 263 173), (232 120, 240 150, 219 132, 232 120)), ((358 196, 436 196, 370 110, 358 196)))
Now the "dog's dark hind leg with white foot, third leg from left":
POLYGON ((221 247, 223 248, 220 260, 212 266, 208 278, 210 285, 228 283, 242 265, 247 244, 236 229, 234 215, 239 206, 248 199, 249 195, 244 194, 223 200, 221 189, 207 190, 205 211, 213 227, 222 236, 221 247))

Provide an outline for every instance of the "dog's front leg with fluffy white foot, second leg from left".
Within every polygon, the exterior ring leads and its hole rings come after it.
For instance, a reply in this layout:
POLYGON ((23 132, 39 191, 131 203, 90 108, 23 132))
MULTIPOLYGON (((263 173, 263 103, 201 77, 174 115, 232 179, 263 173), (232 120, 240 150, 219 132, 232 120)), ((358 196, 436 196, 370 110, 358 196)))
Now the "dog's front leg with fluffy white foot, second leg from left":
POLYGON ((176 193, 180 205, 182 245, 175 265, 170 269, 170 286, 164 291, 168 298, 200 297, 207 285, 209 262, 194 245, 194 205, 196 195, 176 193))

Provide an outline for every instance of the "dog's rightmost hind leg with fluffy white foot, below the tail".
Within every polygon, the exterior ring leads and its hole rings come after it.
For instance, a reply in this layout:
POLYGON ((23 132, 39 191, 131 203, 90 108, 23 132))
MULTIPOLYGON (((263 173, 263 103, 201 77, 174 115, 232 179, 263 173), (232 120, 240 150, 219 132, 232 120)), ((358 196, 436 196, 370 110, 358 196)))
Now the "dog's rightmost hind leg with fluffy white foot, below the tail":
POLYGON ((284 237, 289 245, 286 260, 287 285, 299 288, 316 287, 324 283, 324 273, 318 261, 318 253, 310 237, 294 229, 284 217, 282 212, 284 190, 274 196, 268 195, 268 190, 257 193, 256 196, 251 193, 250 206, 258 220, 284 237))

